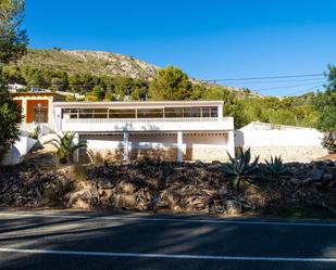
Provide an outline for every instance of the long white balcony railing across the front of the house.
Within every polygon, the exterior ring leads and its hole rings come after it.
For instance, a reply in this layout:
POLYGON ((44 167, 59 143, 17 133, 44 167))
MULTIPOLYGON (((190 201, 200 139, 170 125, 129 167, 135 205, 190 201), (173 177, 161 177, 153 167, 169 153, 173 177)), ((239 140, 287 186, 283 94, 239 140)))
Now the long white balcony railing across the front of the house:
POLYGON ((63 131, 200 131, 233 130, 232 117, 209 118, 63 118, 63 131))

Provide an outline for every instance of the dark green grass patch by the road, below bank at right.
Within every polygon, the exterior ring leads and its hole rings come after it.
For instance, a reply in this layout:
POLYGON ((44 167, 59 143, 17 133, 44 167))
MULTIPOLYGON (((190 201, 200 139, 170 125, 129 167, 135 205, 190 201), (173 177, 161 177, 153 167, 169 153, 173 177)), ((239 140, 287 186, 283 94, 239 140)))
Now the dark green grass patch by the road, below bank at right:
POLYGON ((263 208, 260 214, 279 218, 336 219, 336 213, 326 207, 303 202, 274 204, 263 208))

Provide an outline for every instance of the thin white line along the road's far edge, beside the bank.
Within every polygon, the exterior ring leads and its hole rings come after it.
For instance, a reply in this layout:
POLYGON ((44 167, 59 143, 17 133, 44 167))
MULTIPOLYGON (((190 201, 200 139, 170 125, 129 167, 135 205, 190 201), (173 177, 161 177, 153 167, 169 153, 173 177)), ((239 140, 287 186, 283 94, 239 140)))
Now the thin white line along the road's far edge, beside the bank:
POLYGON ((258 221, 258 220, 219 220, 196 218, 151 218, 151 217, 125 217, 125 216, 85 216, 85 215, 53 215, 53 214, 12 214, 0 213, 0 217, 27 217, 27 218, 65 218, 65 219, 90 219, 90 220, 134 220, 150 222, 186 222, 186 223, 222 223, 222 224, 259 224, 259 226, 302 226, 302 227, 336 227, 336 223, 327 222, 290 222, 290 221, 258 221))

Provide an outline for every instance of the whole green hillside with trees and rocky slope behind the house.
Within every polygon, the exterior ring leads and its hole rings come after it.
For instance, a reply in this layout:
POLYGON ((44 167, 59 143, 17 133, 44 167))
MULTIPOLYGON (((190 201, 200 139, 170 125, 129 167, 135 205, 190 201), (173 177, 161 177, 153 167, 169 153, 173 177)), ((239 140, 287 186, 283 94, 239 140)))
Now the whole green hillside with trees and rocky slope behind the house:
POLYGON ((237 128, 253 120, 335 130, 335 67, 329 66, 325 92, 300 97, 260 97, 190 79, 183 70, 165 69, 130 56, 108 52, 29 49, 17 64, 7 66, 10 83, 71 91, 88 101, 223 100, 237 128))

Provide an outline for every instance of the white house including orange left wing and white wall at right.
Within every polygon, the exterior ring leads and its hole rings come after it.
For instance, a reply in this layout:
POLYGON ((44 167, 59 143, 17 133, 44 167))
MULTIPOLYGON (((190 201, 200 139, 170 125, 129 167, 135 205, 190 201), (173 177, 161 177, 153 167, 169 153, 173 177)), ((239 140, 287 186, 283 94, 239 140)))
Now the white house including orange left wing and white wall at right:
POLYGON ((226 160, 239 146, 261 160, 281 155, 308 162, 327 154, 316 129, 251 123, 235 131, 233 117, 223 116, 223 101, 64 102, 51 92, 16 92, 13 99, 22 107, 22 130, 39 125, 43 134, 75 132, 87 142, 76 153, 80 159, 226 160))

